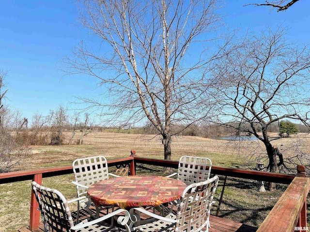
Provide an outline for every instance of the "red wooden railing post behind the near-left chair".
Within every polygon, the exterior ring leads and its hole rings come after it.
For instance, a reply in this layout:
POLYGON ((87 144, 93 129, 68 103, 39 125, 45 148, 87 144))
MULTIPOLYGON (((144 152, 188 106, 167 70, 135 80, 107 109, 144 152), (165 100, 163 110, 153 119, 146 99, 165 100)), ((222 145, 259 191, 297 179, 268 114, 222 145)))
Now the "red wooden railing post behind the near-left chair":
MULTIPOLYGON (((42 173, 34 174, 32 180, 37 182, 39 185, 42 185, 42 173)), ((39 203, 35 199, 35 195, 31 189, 30 223, 29 223, 29 230, 31 231, 39 229, 40 211, 38 210, 38 208, 39 203)))

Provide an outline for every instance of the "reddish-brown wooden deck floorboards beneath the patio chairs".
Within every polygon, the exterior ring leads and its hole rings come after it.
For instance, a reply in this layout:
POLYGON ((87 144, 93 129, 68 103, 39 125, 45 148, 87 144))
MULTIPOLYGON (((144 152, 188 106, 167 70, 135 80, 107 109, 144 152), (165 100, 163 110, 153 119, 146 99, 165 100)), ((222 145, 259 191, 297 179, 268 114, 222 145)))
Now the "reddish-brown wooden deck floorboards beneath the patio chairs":
MULTIPOLYGON (((74 217, 74 215, 72 215, 74 217)), ((142 217, 142 215, 141 215, 142 217)), ((224 219, 221 217, 210 216, 211 228, 209 232, 256 232, 257 228, 244 225, 239 222, 224 219)), ((31 232, 28 228, 21 228, 18 232, 31 232)), ((44 232, 43 223, 40 223, 40 229, 35 232, 44 232)))

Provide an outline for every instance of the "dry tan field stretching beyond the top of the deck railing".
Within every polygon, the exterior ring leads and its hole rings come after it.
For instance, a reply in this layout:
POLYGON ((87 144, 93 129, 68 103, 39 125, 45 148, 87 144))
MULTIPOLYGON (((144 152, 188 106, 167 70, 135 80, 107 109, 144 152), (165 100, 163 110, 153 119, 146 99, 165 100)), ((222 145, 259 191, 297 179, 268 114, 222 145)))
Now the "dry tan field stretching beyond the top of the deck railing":
MULTIPOLYGON (((79 136, 77 133, 76 138, 79 136)), ((71 133, 66 132, 66 137, 68 140, 71 133)), ((257 141, 228 142, 193 136, 178 136, 172 140, 172 160, 179 160, 183 155, 207 156, 215 165, 242 167, 243 164, 255 165, 257 157, 265 154, 263 144, 257 141), (252 163, 245 163, 245 160, 250 160, 252 163)), ((304 135, 277 140, 273 144, 285 151, 283 155, 291 155, 295 152, 294 144, 297 140, 301 142, 300 149, 307 153, 310 138, 304 135)), ((27 165, 24 163, 17 168, 25 170, 71 165, 77 158, 96 155, 104 155, 108 160, 124 158, 130 155, 130 150, 136 150, 139 157, 155 159, 164 157, 160 136, 91 132, 84 137, 82 145, 31 146, 32 152, 25 160, 27 165)))

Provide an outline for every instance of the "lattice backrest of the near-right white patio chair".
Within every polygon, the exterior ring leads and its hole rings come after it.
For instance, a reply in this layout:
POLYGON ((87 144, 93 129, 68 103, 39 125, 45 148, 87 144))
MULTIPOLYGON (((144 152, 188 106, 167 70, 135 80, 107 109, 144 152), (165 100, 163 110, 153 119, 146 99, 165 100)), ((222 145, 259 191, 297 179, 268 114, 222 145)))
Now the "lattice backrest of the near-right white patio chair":
POLYGON ((194 232, 209 226, 217 185, 218 176, 214 176, 204 182, 189 185, 184 190, 176 214, 175 231, 194 232))

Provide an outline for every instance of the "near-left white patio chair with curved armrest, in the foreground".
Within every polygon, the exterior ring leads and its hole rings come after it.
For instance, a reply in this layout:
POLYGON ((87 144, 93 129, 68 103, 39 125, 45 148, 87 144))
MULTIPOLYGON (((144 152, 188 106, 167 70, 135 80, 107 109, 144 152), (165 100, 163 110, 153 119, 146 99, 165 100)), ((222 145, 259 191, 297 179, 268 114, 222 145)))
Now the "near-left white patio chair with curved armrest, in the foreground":
POLYGON ((99 217, 93 221, 84 220, 78 225, 74 225, 68 202, 61 192, 52 188, 45 188, 35 181, 31 183, 32 191, 39 203, 45 232, 123 232, 130 231, 127 226, 129 212, 118 209, 109 215, 99 217), (118 223, 126 229, 111 227, 105 220, 117 214, 124 214, 118 217, 118 223))

